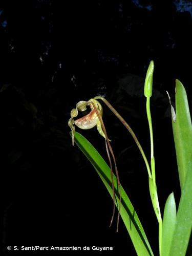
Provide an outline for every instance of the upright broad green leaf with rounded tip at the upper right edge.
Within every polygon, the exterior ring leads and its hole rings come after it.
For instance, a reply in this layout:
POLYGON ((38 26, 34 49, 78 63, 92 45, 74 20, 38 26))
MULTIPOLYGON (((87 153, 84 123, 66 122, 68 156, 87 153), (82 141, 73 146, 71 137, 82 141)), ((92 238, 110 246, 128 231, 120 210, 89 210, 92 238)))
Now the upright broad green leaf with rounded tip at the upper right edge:
POLYGON ((176 121, 172 125, 182 190, 192 156, 192 125, 186 91, 179 80, 176 80, 176 121))

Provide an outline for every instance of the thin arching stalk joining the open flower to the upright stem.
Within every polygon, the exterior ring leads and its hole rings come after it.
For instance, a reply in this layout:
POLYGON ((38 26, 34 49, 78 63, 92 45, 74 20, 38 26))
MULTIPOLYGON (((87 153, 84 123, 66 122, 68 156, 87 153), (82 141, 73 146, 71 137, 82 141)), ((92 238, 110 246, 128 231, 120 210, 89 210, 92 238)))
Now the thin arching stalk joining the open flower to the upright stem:
POLYGON ((150 178, 152 178, 150 165, 148 164, 148 161, 146 159, 146 156, 145 156, 145 153, 143 151, 143 148, 142 148, 141 144, 139 143, 135 133, 131 129, 130 125, 122 118, 122 116, 113 108, 113 106, 105 98, 103 98, 101 96, 96 96, 96 97, 94 97, 94 99, 102 100, 108 106, 108 108, 116 115, 116 117, 122 122, 122 124, 126 127, 126 129, 130 132, 130 134, 132 135, 133 139, 135 140, 135 142, 136 142, 136 144, 137 144, 137 146, 138 146, 138 148, 139 148, 139 150, 141 152, 141 155, 143 157, 143 160, 144 160, 146 168, 147 168, 148 176, 150 178))

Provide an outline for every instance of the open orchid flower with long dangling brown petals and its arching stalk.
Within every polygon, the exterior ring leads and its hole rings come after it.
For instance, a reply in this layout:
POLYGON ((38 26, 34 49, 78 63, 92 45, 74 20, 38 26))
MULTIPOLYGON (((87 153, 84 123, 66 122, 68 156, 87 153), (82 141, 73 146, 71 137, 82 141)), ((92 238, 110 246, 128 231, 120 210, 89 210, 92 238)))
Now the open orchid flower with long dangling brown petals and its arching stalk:
MULTIPOLYGON (((147 94, 149 94, 150 96, 150 92, 146 91, 147 94)), ((131 129, 130 125, 121 117, 121 115, 113 108, 113 106, 109 103, 109 101, 107 101, 105 98, 101 97, 101 96, 96 96, 93 99, 90 99, 88 101, 79 101, 76 104, 76 108, 73 109, 71 111, 71 118, 69 119, 68 125, 71 128, 72 131, 72 143, 74 145, 74 134, 75 134, 75 125, 77 125, 80 129, 91 129, 94 126, 97 126, 97 130, 100 133, 100 135, 102 137, 105 138, 105 146, 106 146, 106 153, 108 154, 108 158, 109 158, 109 162, 110 162, 110 168, 111 168, 111 179, 112 179, 112 190, 113 190, 113 215, 112 215, 112 219, 111 219, 111 223, 110 226, 113 222, 113 218, 114 218, 114 214, 115 214, 115 190, 114 190, 114 182, 113 182, 113 165, 112 165, 112 161, 111 161, 111 156, 113 159, 113 163, 115 166, 115 173, 116 173, 116 177, 117 177, 117 183, 118 183, 118 192, 119 192, 119 205, 118 205, 118 217, 117 217, 117 231, 118 231, 118 225, 119 225, 119 211, 120 211, 120 205, 121 205, 121 190, 120 190, 120 180, 119 180, 119 174, 118 174, 118 169, 117 169, 117 165, 116 165, 116 160, 115 160, 115 156, 113 153, 113 149, 110 143, 110 140, 108 138, 108 135, 106 133, 106 129, 102 120, 102 106, 99 103, 99 100, 102 100, 106 106, 108 106, 108 108, 114 113, 114 115, 122 122, 122 124, 126 127, 126 129, 130 132, 131 136, 133 137, 133 139, 135 140, 139 151, 143 157, 143 160, 145 162, 146 168, 147 168, 147 172, 148 172, 148 176, 150 178, 152 178, 152 174, 151 174, 151 169, 150 166, 148 164, 148 161, 146 159, 146 156, 144 154, 143 148, 141 147, 141 144, 139 143, 135 133, 133 132, 133 130, 131 129), (91 111, 89 114, 74 120, 75 117, 78 116, 78 111, 86 111, 87 110, 87 106, 90 106, 91 111), (111 153, 111 155, 110 155, 111 153)))

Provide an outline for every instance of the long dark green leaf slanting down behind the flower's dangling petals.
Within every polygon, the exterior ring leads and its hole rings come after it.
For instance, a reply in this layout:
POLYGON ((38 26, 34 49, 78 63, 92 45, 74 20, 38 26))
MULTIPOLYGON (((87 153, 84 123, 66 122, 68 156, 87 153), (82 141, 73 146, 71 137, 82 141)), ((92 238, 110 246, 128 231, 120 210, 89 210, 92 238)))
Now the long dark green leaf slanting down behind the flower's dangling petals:
MULTIPOLYGON (((80 148, 80 150, 86 155, 89 161, 92 163, 94 168, 97 171, 97 174, 103 181, 105 187, 108 189, 111 197, 112 196, 112 182, 111 182, 111 171, 110 167, 103 158, 99 155, 96 149, 92 146, 92 144, 84 138, 81 134, 75 132, 75 142, 80 148)), ((115 196, 118 201, 119 194, 117 191, 117 180, 116 176, 113 175, 114 178, 114 186, 115 186, 115 196)), ((117 206, 117 205, 116 205, 117 206)), ((151 249, 150 244, 146 238, 143 227, 139 221, 139 218, 136 214, 136 211, 126 195, 124 189, 121 186, 121 207, 120 207, 120 215, 126 226, 127 231, 130 234, 131 240, 134 244, 137 255, 154 255, 151 249)))

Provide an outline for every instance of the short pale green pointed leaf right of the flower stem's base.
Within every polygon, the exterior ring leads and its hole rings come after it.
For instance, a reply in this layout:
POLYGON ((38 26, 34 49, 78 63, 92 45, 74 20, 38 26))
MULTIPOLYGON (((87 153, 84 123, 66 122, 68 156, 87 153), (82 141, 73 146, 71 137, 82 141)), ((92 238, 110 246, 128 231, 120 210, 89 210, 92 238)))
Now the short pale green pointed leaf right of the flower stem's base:
POLYGON ((176 223, 177 211, 174 193, 170 194, 167 198, 164 215, 163 215, 163 230, 162 230, 162 256, 168 256, 170 246, 172 244, 175 223, 176 223))

